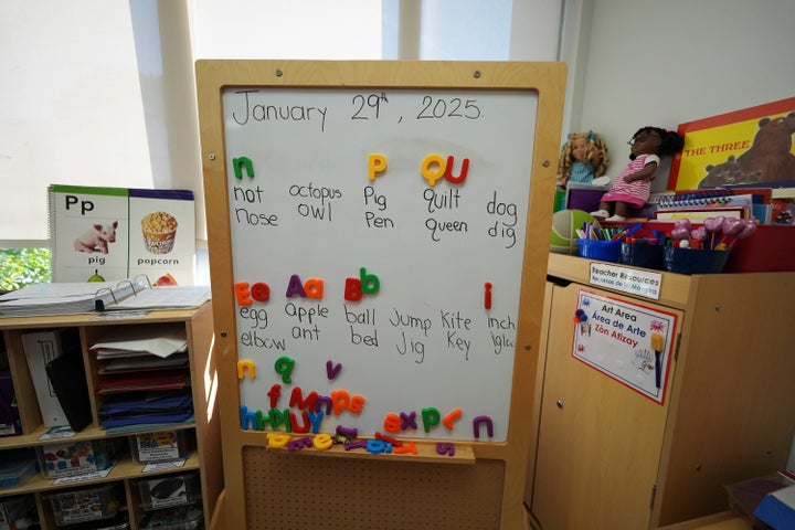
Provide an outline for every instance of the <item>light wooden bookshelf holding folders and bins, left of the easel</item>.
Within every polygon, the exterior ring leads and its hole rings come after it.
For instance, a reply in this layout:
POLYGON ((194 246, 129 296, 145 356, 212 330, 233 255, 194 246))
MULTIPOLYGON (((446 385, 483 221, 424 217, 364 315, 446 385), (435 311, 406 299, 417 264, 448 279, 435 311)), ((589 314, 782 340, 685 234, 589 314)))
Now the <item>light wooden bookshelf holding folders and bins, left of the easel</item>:
MULTIPOLYGON (((22 422, 22 435, 0 438, 0 458, 3 453, 19 447, 39 447, 59 441, 41 441, 41 436, 47 431, 42 422, 36 393, 32 382, 31 373, 25 362, 25 353, 22 347, 22 336, 32 331, 43 331, 56 328, 76 328, 80 332, 83 359, 85 364, 85 377, 87 380, 92 417, 89 426, 82 430, 70 441, 110 441, 121 438, 126 447, 125 456, 112 468, 104 478, 81 480, 72 484, 59 485, 52 478, 44 478, 36 474, 31 479, 11 488, 0 489, 0 502, 3 498, 20 494, 30 494, 35 497, 39 518, 44 530, 57 527, 53 517, 50 502, 45 496, 53 492, 68 491, 84 486, 119 485, 126 499, 131 529, 142 528, 145 511, 141 507, 141 498, 137 481, 140 479, 167 478, 173 474, 198 473, 201 486, 202 508, 205 524, 211 520, 216 499, 223 489, 223 471, 221 455, 220 422, 218 417, 215 359, 213 357, 213 320, 210 303, 191 310, 168 310, 152 311, 146 316, 124 317, 100 320, 93 315, 70 315, 59 317, 26 317, 0 319, 6 350, 14 391, 17 395, 20 418, 22 422), (184 465, 173 469, 160 469, 144 473, 144 464, 137 463, 127 444, 128 436, 141 434, 147 431, 132 431, 130 433, 108 435, 98 425, 98 407, 100 399, 96 395, 98 362, 96 357, 88 351, 89 344, 108 332, 121 327, 136 326, 146 328, 162 322, 174 322, 180 330, 184 329, 188 339, 191 392, 193 398, 194 422, 181 424, 179 427, 168 430, 183 430, 188 439, 194 439, 192 448, 186 458, 184 465)), ((163 431, 158 428, 157 431, 163 431)), ((150 432, 156 432, 150 430, 150 432)), ((8 453, 7 453, 8 454, 8 453)))

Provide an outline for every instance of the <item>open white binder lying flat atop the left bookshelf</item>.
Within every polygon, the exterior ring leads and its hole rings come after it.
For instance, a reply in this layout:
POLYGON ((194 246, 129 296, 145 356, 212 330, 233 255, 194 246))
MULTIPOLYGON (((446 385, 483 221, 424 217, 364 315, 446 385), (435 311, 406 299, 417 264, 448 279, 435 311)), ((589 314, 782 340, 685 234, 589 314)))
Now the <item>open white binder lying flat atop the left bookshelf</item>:
POLYGON ((0 317, 186 309, 210 299, 206 286, 152 287, 145 275, 120 282, 36 284, 0 296, 0 317))

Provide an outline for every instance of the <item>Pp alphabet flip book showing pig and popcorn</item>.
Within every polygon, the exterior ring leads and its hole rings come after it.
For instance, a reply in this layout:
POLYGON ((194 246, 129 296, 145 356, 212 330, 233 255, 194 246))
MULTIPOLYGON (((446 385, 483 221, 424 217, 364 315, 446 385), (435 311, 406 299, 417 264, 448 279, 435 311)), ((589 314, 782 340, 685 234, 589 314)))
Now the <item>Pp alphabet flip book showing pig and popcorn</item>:
POLYGON ((52 184, 47 202, 53 282, 193 284, 192 191, 52 184))

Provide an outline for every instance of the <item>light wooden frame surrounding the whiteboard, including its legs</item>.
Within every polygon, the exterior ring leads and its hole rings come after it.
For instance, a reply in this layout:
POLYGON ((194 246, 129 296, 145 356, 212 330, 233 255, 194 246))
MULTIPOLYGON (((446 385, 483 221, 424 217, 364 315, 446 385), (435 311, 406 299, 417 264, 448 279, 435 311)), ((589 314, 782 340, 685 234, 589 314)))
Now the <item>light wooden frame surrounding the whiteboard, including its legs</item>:
MULTIPOLYGON (((543 293, 549 254, 552 197, 555 187, 556 160, 560 150, 565 65, 562 63, 519 62, 389 62, 389 61, 199 61, 197 86, 201 132, 201 156, 204 178, 215 348, 219 353, 219 402, 223 438, 225 492, 219 504, 223 512, 216 519, 224 528, 259 528, 252 526, 252 510, 246 506, 246 455, 258 455, 257 447, 267 444, 263 433, 240 427, 237 386, 237 344, 235 332, 234 278, 229 216, 224 124, 221 94, 226 86, 257 87, 362 87, 362 88, 466 88, 531 91, 538 97, 532 180, 528 209, 530 212, 524 241, 524 266, 521 278, 521 303, 517 322, 517 347, 512 374, 510 427, 506 443, 466 444, 474 466, 497 463, 501 491, 496 495, 500 528, 523 528, 522 494, 530 447, 533 443, 531 423, 532 399, 536 394, 543 293), (539 244, 539 243, 543 244, 539 244), (527 413, 522 413, 526 411, 527 413)), ((430 445, 417 442, 417 445, 430 445)), ((271 449, 267 449, 271 451, 271 449)), ((275 451, 275 449, 274 449, 275 451)), ((379 464, 389 455, 354 456, 379 464)), ((259 456, 256 456, 259 458, 259 456)), ((327 458, 293 456, 296 462, 327 458)), ((336 458, 335 458, 336 459, 336 458)), ((394 459, 392 459, 394 462, 394 459)), ((439 460, 441 462, 441 460, 439 460)), ((422 469, 422 464, 412 465, 422 469)), ((420 471, 422 473, 422 471, 420 471)), ((277 480, 276 477, 272 477, 277 480)), ((300 478, 298 478, 300 480, 300 478)), ((457 499, 448 499, 455 504, 457 499)), ((268 502, 273 502, 269 500, 268 502)), ((372 502, 362 502, 373 506, 372 502)), ((373 506, 378 513, 382 509, 373 506)), ((382 511, 382 510, 381 510, 382 511)), ((329 513, 329 518, 332 515, 329 513)), ((328 519, 326 522, 329 522, 328 519)), ((262 527, 269 528, 269 527, 262 527)), ((350 527, 348 527, 350 528, 350 527)), ((421 528, 414 526, 413 528, 421 528)))

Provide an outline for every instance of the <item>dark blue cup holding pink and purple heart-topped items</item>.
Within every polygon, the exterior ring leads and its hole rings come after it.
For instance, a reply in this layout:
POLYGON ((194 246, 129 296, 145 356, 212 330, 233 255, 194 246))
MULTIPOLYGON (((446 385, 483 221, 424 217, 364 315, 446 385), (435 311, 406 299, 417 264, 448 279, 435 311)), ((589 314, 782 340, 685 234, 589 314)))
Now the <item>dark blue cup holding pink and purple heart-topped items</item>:
POLYGON ((690 221, 676 222, 665 247, 665 271, 678 274, 718 274, 723 272, 734 244, 756 232, 753 219, 722 215, 706 219, 693 227, 690 221))

